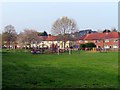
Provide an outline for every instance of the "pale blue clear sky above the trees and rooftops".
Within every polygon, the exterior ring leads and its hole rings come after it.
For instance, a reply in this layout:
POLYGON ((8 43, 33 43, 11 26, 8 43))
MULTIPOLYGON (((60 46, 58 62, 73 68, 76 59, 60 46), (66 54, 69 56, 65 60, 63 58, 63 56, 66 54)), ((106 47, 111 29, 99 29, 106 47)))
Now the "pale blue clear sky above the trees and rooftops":
POLYGON ((118 28, 118 2, 2 2, 1 30, 13 25, 51 33, 52 24, 62 16, 77 22, 79 30, 118 28))

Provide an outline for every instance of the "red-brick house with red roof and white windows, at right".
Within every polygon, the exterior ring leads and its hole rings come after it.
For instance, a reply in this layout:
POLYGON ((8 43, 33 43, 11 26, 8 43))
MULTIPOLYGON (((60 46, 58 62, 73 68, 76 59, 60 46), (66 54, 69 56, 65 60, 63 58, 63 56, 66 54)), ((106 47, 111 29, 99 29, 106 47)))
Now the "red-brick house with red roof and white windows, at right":
POLYGON ((97 48, 105 49, 119 49, 120 48, 120 33, 118 32, 107 32, 107 33, 92 33, 86 34, 76 41, 76 44, 84 44, 93 42, 97 48))

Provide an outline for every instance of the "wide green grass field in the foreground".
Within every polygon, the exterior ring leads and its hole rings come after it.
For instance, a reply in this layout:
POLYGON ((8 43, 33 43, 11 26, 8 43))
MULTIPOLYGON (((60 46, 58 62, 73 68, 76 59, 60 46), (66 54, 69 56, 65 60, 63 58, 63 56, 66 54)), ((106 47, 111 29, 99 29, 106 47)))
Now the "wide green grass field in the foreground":
POLYGON ((3 88, 118 86, 117 52, 37 54, 4 52, 3 88))

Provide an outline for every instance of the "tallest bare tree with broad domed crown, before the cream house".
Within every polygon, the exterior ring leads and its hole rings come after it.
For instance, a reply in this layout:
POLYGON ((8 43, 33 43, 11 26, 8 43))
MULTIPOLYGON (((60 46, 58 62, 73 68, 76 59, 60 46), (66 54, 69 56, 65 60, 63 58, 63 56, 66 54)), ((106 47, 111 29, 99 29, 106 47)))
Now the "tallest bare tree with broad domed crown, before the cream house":
POLYGON ((61 35, 62 40, 64 42, 64 48, 65 48, 65 43, 66 43, 66 34, 70 34, 73 32, 76 32, 77 29, 77 24, 73 19, 70 19, 68 17, 62 17, 57 19, 52 26, 52 34, 54 35, 61 35))

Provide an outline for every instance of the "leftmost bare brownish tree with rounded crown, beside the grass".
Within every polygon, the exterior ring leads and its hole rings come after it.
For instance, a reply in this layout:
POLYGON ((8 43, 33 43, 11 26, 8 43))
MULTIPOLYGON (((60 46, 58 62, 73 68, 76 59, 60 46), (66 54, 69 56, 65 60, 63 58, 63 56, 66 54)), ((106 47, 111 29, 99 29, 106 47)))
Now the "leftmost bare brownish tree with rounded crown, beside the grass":
POLYGON ((14 26, 7 25, 4 28, 4 31, 2 33, 2 40, 3 43, 6 42, 7 46, 10 49, 11 44, 14 44, 17 38, 17 33, 15 31, 14 26))

